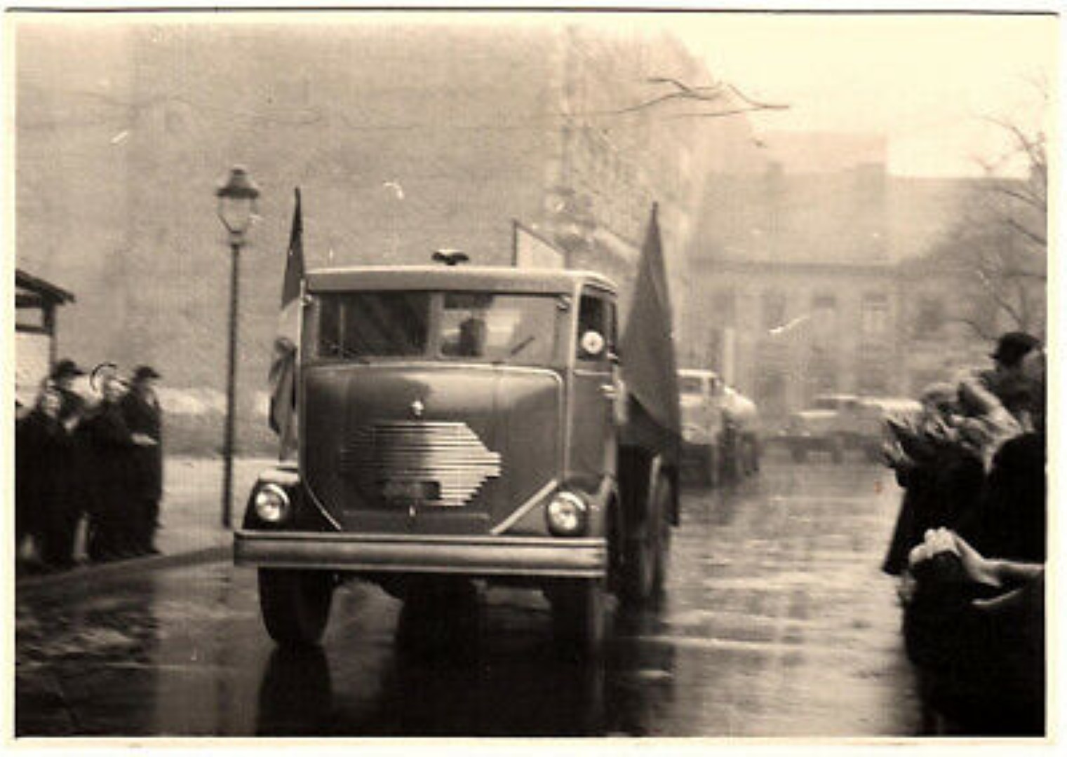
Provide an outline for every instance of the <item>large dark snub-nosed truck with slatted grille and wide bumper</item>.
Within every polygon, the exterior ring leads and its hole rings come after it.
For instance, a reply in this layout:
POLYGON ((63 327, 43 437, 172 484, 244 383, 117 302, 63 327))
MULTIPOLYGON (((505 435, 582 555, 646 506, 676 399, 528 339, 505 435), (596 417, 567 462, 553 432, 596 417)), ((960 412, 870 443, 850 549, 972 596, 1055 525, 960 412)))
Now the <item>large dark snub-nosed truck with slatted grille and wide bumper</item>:
POLYGON ((457 582, 540 591, 583 656, 609 595, 655 601, 681 516, 657 292, 639 273, 640 322, 620 339, 618 289, 596 273, 307 272, 297 460, 259 476, 234 536, 272 639, 318 643, 349 580, 404 601, 457 582))

